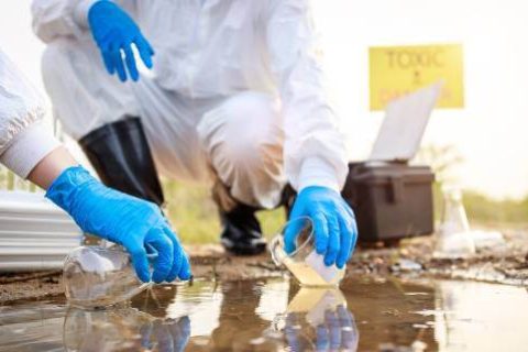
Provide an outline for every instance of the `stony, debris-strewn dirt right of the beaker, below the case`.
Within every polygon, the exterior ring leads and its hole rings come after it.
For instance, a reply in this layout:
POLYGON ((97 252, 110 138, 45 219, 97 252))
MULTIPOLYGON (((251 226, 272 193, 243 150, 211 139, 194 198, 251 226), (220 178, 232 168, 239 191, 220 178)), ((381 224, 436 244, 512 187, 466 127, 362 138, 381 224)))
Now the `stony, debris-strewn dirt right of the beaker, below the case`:
POLYGON ((481 248, 471 258, 435 258, 433 237, 404 240, 399 245, 360 249, 348 275, 439 277, 528 286, 527 231, 504 232, 506 243, 481 248))

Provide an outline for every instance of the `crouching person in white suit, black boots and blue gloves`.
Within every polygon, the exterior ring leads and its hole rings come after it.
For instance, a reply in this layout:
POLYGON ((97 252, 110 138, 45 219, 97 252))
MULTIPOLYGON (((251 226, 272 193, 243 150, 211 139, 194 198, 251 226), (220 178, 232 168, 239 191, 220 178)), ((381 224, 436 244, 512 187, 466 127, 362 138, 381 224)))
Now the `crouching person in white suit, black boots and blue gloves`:
POLYGON ((289 183, 290 217, 314 220, 327 265, 345 264, 358 231, 308 1, 34 0, 32 12, 54 112, 107 185, 161 205, 155 169, 212 182, 222 244, 253 254, 255 211, 289 183), (133 50, 153 75, 139 79, 133 50))

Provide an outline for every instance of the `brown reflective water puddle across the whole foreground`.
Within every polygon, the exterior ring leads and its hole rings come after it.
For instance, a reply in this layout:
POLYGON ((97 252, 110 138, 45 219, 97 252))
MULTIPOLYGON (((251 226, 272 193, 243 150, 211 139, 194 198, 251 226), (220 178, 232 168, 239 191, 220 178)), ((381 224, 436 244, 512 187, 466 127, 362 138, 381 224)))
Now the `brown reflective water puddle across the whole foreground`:
POLYGON ((522 351, 527 311, 525 288, 469 282, 195 282, 107 310, 0 307, 0 351, 522 351))

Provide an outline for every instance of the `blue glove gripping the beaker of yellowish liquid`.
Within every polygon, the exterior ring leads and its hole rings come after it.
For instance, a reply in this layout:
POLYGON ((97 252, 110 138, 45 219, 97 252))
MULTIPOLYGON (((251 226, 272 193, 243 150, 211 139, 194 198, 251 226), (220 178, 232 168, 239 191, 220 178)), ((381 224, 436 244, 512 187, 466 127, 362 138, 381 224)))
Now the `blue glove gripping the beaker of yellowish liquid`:
MULTIPOLYGON (((309 217, 314 221, 315 246, 324 255, 324 264, 336 263, 342 268, 350 258, 358 240, 358 227, 352 209, 341 195, 330 188, 310 186, 302 189, 295 200, 290 220, 309 217)), ((295 251, 298 231, 288 228, 284 234, 287 253, 295 251)))

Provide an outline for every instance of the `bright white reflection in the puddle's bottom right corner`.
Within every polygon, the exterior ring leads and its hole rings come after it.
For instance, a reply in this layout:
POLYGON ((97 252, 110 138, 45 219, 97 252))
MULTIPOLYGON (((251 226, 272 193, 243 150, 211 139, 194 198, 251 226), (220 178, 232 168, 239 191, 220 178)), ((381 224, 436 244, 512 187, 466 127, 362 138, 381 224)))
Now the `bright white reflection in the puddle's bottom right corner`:
POLYGON ((473 282, 435 284, 435 337, 440 351, 527 351, 528 295, 522 288, 473 282))

